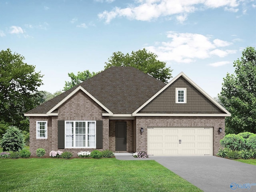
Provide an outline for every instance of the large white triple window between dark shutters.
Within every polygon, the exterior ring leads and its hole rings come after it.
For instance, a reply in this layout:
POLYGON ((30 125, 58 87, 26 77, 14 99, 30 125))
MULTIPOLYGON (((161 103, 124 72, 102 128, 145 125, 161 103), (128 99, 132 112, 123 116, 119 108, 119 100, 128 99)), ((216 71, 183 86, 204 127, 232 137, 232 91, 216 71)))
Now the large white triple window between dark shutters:
POLYGON ((96 121, 65 121, 65 148, 96 148, 96 121))

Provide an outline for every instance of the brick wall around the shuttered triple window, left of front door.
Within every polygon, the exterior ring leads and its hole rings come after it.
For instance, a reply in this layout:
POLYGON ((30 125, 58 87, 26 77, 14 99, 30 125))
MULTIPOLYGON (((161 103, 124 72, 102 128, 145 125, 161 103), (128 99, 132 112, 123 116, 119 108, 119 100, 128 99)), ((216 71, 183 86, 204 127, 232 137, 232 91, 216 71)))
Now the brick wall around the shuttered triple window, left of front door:
MULTIPOLYGON (((92 151, 90 148, 58 149, 58 120, 102 120, 103 121, 103 149, 109 148, 108 117, 102 117, 102 108, 84 92, 78 91, 67 102, 60 106, 58 116, 30 117, 30 152, 36 156, 37 148, 46 150, 45 156, 49 156, 51 150, 70 151, 74 156, 80 151, 92 151), (36 139, 36 121, 48 120, 48 138, 36 139)), ((101 150, 101 149, 100 149, 101 150)))

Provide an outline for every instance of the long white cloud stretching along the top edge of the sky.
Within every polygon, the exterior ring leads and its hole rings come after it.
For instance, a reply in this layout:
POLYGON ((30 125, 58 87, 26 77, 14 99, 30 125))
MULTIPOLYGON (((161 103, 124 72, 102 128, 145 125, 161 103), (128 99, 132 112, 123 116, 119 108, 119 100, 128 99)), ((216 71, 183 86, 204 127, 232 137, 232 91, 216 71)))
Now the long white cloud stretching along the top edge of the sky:
MULTIPOLYGON (((98 0, 103 2, 103 0, 98 0)), ((115 7, 111 11, 105 10, 98 14, 98 18, 109 23, 116 17, 130 20, 151 21, 160 16, 176 15, 179 22, 184 22, 189 13, 199 9, 220 8, 227 11, 238 11, 240 0, 137 0, 126 8, 115 7)))

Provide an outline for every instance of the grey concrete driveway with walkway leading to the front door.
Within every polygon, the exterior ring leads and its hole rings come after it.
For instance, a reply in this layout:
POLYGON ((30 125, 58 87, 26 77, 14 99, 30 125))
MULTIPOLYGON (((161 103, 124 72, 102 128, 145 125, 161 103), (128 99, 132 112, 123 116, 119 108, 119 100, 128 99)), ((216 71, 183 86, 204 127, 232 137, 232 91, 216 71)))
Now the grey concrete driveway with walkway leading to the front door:
POLYGON ((150 156, 146 159, 116 156, 116 159, 155 160, 204 192, 256 192, 256 166, 251 164, 216 156, 150 156))

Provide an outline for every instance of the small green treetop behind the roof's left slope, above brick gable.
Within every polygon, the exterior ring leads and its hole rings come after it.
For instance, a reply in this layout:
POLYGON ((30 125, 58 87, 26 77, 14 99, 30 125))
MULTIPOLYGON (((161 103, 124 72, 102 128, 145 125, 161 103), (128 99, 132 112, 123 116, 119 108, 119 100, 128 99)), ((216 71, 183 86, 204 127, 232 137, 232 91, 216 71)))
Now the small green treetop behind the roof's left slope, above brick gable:
POLYGON ((71 78, 71 82, 65 81, 65 86, 63 88, 63 91, 69 90, 70 88, 82 83, 83 81, 93 77, 98 73, 92 72, 90 73, 89 70, 86 70, 84 72, 78 71, 77 75, 75 75, 73 72, 68 73, 68 76, 71 78))

